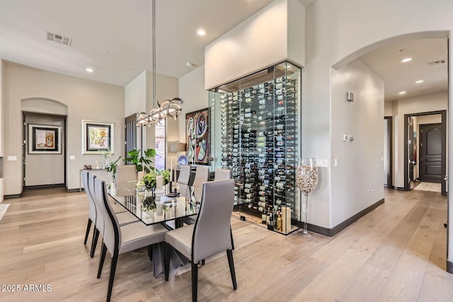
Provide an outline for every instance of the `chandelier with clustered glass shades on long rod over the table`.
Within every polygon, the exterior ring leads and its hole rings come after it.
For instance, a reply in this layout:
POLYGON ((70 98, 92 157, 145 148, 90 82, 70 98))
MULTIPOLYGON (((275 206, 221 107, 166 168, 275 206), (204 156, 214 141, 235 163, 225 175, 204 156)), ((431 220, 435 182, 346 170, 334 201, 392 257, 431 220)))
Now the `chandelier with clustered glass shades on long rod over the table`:
POLYGON ((178 118, 178 115, 181 114, 181 106, 179 104, 183 103, 183 100, 180 98, 172 98, 171 100, 164 100, 162 104, 159 103, 159 100, 156 100, 156 0, 153 0, 153 103, 154 109, 145 112, 137 112, 137 117, 135 118, 135 124, 137 127, 148 126, 159 122, 159 120, 164 120, 166 117, 171 117, 173 120, 178 118), (156 106, 157 105, 157 106, 156 106))

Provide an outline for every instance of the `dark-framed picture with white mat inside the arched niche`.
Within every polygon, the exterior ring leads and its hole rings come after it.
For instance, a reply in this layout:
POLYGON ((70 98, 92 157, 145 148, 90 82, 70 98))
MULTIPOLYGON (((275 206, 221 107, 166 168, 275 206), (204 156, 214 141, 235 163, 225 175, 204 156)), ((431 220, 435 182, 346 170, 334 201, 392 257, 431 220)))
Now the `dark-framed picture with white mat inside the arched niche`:
POLYGON ((61 126, 28 124, 28 154, 61 154, 61 126))

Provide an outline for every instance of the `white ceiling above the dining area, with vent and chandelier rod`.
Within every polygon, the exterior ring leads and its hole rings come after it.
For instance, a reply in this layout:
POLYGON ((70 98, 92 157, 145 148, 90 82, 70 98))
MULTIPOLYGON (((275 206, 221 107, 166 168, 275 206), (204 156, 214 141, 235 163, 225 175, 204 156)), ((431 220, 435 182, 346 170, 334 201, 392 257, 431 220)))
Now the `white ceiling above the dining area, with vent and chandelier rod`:
MULTIPOLYGON (((156 71, 179 78, 204 64, 206 45, 270 2, 157 0, 156 71)), ((151 0, 0 1, 0 57, 8 61, 124 86, 152 70, 151 50, 151 0), (46 30, 71 37, 71 47, 45 40, 46 30)))

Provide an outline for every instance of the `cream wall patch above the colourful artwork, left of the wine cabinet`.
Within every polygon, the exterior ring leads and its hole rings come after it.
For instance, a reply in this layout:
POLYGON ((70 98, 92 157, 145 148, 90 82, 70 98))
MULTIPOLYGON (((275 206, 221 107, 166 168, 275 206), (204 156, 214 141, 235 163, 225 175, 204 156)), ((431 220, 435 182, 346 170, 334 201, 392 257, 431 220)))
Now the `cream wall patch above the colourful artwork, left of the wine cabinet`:
POLYGON ((185 114, 209 107, 209 92, 205 90, 205 66, 200 66, 178 81, 179 97, 184 100, 178 118, 178 141, 185 143, 185 114))

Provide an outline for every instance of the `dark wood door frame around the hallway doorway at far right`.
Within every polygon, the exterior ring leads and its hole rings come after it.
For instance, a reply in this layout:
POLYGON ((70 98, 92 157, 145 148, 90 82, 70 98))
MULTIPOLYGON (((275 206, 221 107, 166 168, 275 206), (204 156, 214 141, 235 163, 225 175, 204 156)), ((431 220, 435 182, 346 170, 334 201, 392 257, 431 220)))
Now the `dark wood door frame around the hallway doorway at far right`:
POLYGON ((409 113, 404 115, 404 190, 410 191, 409 182, 408 182, 408 118, 409 117, 416 117, 420 115, 441 115, 442 121, 442 178, 441 178, 441 194, 447 194, 447 187, 445 177, 447 176, 447 110, 437 110, 437 111, 429 111, 429 112, 417 112, 417 113, 409 113))

